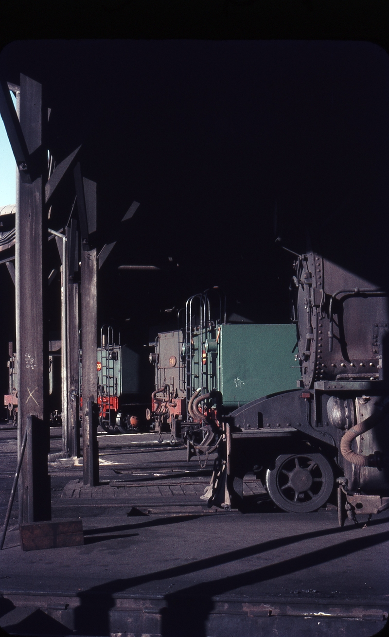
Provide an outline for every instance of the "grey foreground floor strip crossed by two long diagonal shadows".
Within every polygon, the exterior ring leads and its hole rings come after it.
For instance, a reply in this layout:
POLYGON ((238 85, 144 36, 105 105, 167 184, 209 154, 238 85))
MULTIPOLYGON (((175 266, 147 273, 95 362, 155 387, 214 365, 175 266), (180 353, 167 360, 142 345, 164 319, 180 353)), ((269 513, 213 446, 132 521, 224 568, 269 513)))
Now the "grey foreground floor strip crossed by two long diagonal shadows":
MULTIPOLYGON (((83 519, 85 545, 23 552, 18 529, 1 553, 8 589, 204 594, 389 603, 389 515, 339 529, 336 512, 83 519)), ((3 586, 4 587, 4 586, 3 586)))

